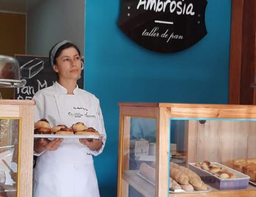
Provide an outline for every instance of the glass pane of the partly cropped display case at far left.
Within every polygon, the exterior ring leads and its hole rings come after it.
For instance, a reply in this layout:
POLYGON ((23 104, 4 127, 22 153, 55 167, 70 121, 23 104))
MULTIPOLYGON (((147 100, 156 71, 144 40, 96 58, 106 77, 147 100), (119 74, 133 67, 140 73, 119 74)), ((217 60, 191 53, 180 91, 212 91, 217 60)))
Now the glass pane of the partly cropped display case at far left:
POLYGON ((0 196, 17 196, 19 120, 0 119, 0 196))

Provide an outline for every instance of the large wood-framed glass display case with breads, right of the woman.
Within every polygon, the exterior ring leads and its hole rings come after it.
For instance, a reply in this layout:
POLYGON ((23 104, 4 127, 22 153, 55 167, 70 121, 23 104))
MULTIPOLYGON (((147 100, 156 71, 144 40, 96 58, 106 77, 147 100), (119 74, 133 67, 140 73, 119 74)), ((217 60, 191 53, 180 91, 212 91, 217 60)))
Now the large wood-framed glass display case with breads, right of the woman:
POLYGON ((118 197, 256 196, 255 106, 118 105, 118 197))

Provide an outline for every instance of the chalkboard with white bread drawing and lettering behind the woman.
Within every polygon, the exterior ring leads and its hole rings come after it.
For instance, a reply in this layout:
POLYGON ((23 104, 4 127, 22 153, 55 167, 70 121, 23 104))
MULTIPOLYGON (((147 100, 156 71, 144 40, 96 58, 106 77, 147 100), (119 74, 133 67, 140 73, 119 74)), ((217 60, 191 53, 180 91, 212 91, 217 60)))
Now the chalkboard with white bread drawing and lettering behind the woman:
MULTIPOLYGON (((58 79, 47 57, 15 55, 20 65, 20 79, 26 80, 23 88, 16 88, 15 99, 32 99, 43 88, 53 85, 58 79)), ((83 72, 78 80, 78 87, 83 89, 83 72)))

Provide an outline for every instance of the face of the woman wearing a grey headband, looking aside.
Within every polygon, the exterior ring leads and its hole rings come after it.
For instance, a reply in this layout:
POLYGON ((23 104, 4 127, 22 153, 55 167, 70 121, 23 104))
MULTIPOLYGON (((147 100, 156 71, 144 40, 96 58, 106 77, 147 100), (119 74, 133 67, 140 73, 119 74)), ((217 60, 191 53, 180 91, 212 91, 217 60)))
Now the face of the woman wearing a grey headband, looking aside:
POLYGON ((53 70, 59 74, 59 78, 67 80, 78 80, 81 74, 81 59, 78 51, 74 47, 69 47, 61 51, 56 58, 53 70))

